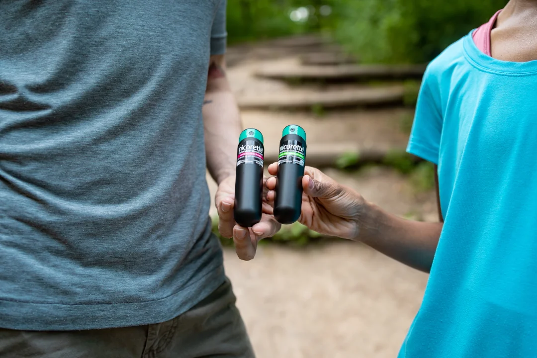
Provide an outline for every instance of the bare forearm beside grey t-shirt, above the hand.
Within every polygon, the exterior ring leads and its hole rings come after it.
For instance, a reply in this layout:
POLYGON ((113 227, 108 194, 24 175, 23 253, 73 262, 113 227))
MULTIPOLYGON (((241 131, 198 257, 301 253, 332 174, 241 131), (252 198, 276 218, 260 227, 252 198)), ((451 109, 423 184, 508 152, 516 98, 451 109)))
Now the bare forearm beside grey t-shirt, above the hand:
POLYGON ((207 168, 220 183, 235 174, 237 140, 242 125, 238 106, 223 69, 209 68, 203 107, 207 168))

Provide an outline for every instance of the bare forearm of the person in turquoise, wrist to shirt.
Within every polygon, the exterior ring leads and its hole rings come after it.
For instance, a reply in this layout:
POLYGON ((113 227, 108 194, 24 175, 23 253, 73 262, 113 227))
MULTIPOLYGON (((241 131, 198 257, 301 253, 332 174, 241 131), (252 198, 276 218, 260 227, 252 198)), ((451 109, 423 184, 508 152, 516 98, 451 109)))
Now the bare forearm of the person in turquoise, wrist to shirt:
POLYGON ((429 272, 443 223, 404 220, 372 203, 364 205, 358 240, 403 264, 429 272))

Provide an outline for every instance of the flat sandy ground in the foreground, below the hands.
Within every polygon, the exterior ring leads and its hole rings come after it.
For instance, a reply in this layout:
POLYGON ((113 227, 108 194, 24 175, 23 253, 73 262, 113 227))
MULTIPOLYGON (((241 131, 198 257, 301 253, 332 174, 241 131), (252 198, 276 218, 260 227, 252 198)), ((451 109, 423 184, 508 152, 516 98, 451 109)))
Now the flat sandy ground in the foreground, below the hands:
POLYGON ((395 358, 427 280, 346 242, 224 258, 258 358, 395 358))

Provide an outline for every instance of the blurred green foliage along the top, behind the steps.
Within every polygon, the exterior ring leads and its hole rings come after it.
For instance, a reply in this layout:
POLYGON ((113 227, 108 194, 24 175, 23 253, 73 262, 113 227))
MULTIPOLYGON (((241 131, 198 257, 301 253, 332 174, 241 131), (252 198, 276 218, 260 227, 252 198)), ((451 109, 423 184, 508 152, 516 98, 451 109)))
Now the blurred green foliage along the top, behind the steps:
POLYGON ((506 2, 228 0, 229 42, 323 31, 364 62, 426 62, 506 2), (307 16, 293 20, 301 7, 307 16))

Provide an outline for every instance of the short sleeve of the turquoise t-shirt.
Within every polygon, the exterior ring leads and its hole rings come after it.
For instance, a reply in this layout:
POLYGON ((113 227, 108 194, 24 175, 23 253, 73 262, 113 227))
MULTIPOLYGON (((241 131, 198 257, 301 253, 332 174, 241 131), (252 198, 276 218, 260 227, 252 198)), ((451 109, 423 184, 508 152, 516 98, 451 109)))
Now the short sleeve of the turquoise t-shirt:
POLYGON ((419 90, 416 114, 410 133, 407 152, 438 164, 440 137, 442 135, 442 114, 438 96, 438 86, 432 84, 425 71, 419 90), (436 91, 434 91, 436 89, 436 91), (436 94, 436 95, 435 95, 436 94))

